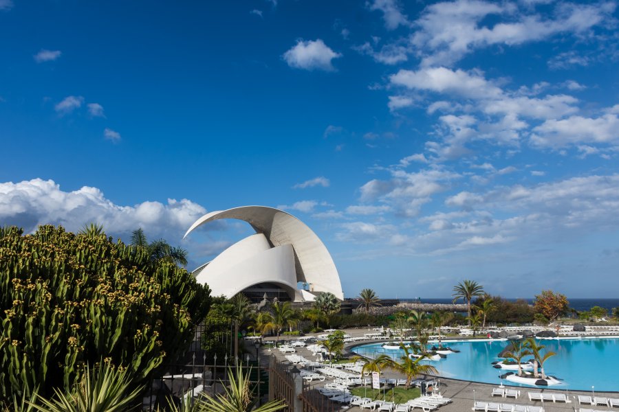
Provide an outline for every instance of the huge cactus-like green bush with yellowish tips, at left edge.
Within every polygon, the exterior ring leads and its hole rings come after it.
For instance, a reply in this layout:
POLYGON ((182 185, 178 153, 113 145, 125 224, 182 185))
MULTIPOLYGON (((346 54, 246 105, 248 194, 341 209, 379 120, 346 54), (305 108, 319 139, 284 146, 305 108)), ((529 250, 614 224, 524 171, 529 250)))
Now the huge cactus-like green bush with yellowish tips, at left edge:
POLYGON ((139 384, 188 345, 209 294, 183 268, 104 233, 1 231, 0 400, 69 390, 102 359, 139 384))

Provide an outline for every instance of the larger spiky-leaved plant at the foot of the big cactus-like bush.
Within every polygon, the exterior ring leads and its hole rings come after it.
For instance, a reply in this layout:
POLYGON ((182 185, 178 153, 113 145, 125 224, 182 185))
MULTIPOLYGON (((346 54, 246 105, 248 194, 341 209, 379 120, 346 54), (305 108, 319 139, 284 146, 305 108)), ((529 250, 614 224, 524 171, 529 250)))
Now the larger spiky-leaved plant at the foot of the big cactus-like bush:
POLYGON ((131 385, 129 369, 114 368, 102 362, 92 371, 87 366, 82 381, 74 393, 54 389, 51 400, 36 395, 28 402, 34 411, 41 412, 124 412, 135 407, 142 387, 131 385))

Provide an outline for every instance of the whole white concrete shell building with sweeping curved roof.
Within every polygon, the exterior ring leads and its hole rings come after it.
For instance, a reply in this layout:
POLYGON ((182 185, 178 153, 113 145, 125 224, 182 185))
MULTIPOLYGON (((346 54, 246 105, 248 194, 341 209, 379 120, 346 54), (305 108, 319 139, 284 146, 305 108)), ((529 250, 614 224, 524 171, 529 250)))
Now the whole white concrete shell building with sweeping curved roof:
POLYGON ((305 223, 285 211, 265 206, 243 206, 212 211, 196 220, 185 236, 197 227, 219 219, 239 219, 256 231, 199 266, 193 273, 208 284, 211 295, 232 297, 257 284, 281 287, 294 301, 313 300, 314 295, 297 288, 330 292, 344 299, 338 270, 327 248, 305 223))

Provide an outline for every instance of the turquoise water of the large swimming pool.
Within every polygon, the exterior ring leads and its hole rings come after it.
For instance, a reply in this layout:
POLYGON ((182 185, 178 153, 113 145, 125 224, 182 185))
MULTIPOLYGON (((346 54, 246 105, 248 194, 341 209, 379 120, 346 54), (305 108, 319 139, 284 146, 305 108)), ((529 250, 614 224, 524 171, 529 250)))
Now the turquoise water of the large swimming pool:
MULTIPOLYGON (((492 362, 501 358, 501 352, 509 341, 444 341, 460 352, 449 354, 440 361, 428 361, 439 371, 440 376, 475 382, 501 382, 499 375, 507 371, 495 369, 492 362)), ((552 386, 553 389, 578 389, 591 391, 619 391, 619 339, 542 339, 539 344, 545 345, 546 350, 556 352, 556 356, 548 359, 544 365, 547 375, 563 379, 561 385, 552 386)), ((402 350, 385 350, 381 343, 371 343, 354 347, 353 351, 372 358, 375 354, 387 354, 399 360, 404 354, 402 350)), ((525 359, 530 358, 527 356, 525 359)), ((502 380, 504 385, 518 385, 502 380)))

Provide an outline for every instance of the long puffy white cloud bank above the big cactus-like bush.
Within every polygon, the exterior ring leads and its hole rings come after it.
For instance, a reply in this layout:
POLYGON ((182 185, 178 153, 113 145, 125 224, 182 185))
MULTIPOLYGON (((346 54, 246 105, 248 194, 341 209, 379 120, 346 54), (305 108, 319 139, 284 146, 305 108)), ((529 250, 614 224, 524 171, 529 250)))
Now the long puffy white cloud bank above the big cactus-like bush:
POLYGON ((114 204, 96 187, 65 192, 51 180, 0 183, 0 220, 23 227, 28 233, 39 225, 63 225, 69 231, 78 231, 96 222, 108 235, 127 235, 142 227, 149 236, 175 243, 205 213, 204 207, 187 199, 125 206, 114 204))

